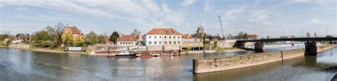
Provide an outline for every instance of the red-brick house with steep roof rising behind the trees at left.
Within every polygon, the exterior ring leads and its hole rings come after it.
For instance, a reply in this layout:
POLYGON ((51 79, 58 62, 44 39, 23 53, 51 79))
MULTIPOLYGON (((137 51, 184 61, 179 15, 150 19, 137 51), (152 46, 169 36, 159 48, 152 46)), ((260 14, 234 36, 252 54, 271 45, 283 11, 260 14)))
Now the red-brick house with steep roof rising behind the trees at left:
POLYGON ((73 34, 73 40, 84 39, 84 34, 76 26, 71 27, 67 24, 63 29, 63 35, 68 33, 73 34))

